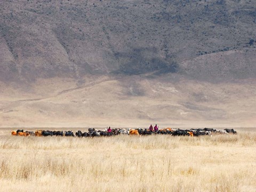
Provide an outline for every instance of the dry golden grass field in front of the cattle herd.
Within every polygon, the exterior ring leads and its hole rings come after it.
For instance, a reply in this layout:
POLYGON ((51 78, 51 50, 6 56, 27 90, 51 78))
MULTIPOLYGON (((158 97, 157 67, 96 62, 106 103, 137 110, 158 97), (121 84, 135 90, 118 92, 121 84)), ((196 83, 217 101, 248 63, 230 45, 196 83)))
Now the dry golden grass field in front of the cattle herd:
POLYGON ((256 132, 16 137, 0 129, 1 191, 256 191, 256 132))

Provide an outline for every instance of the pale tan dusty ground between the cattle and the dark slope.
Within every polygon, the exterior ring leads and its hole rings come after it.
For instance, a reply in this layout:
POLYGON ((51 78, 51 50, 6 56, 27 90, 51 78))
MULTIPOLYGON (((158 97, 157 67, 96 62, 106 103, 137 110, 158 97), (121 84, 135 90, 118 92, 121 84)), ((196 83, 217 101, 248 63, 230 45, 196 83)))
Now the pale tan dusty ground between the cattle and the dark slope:
POLYGON ((256 79, 197 82, 172 76, 0 82, 0 127, 255 127, 256 79))

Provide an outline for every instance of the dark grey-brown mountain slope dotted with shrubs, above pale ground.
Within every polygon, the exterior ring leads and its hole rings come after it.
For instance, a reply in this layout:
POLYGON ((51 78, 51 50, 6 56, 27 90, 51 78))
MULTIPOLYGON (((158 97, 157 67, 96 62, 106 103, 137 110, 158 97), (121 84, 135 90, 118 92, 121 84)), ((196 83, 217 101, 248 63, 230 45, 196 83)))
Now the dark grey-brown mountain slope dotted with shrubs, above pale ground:
POLYGON ((255 9, 246 0, 3 1, 0 80, 152 71, 255 77, 255 9))

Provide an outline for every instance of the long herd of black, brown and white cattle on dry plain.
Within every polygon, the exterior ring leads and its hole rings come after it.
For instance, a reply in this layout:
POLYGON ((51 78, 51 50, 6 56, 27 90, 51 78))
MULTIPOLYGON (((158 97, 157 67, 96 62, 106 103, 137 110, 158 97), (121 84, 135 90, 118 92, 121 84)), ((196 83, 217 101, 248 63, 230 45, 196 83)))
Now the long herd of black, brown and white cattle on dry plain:
POLYGON ((36 130, 34 131, 24 131, 17 130, 12 131, 12 135, 19 136, 29 136, 34 135, 37 137, 46 137, 46 136, 65 136, 65 137, 109 137, 118 134, 127 134, 127 135, 152 135, 152 134, 169 134, 173 136, 190 136, 190 137, 198 137, 200 135, 212 135, 212 134, 236 134, 234 129, 224 129, 224 130, 215 130, 210 128, 204 129, 159 129, 157 132, 149 131, 148 129, 138 128, 138 129, 113 129, 111 131, 107 130, 97 130, 94 128, 89 128, 88 132, 77 131, 75 134, 73 131, 45 131, 45 130, 36 130))

